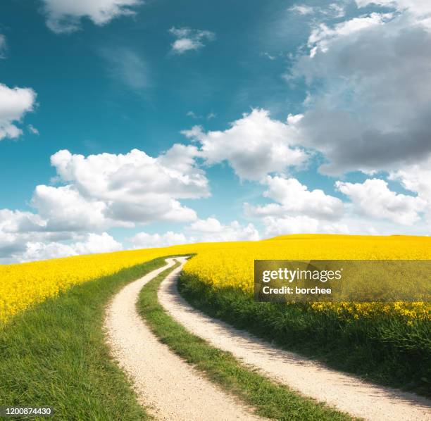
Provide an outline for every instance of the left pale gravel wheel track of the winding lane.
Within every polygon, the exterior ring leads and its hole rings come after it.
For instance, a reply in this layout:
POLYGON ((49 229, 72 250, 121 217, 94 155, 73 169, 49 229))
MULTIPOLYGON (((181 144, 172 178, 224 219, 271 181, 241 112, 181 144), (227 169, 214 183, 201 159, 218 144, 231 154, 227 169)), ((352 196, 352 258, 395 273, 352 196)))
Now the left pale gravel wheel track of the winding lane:
MULTIPOLYGON (((185 258, 177 258, 182 263, 185 258)), ((120 367, 130 376, 139 403, 158 420, 261 420, 232 396, 225 394, 161 344, 136 310, 139 291, 167 265, 124 287, 106 312, 108 344, 120 367)), ((181 268, 168 277, 176 279, 181 268)))

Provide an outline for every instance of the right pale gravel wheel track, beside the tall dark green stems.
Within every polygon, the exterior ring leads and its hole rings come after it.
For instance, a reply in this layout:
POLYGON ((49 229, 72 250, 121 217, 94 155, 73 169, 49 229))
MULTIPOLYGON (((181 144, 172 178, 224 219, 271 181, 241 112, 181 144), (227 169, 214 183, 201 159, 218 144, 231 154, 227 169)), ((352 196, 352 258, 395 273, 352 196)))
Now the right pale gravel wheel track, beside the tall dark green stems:
POLYGON ((209 318, 182 299, 177 292, 176 280, 174 276, 165 279, 158 291, 158 299, 165 310, 189 332, 217 348, 230 351, 272 379, 366 420, 431 420, 431 401, 426 398, 375 386, 330 370, 312 360, 282 351, 220 320, 209 318))

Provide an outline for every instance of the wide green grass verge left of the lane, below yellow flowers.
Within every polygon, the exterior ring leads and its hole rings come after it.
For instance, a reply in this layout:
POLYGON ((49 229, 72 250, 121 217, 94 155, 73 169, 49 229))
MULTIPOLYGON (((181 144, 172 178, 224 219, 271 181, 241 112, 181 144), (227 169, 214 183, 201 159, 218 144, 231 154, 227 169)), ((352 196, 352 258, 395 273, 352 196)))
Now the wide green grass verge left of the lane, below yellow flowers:
POLYGON ((0 330, 0 406, 54 406, 56 420, 147 420, 111 360, 102 330, 109 299, 165 264, 158 258, 77 285, 0 330))

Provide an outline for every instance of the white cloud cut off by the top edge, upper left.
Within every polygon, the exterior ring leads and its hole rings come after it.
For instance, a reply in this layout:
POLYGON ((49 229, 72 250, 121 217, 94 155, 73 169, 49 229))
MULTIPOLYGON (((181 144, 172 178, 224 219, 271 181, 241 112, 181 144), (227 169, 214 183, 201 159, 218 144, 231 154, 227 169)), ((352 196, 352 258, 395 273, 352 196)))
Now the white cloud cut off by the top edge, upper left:
POLYGON ((89 18, 105 25, 121 15, 134 15, 141 0, 43 0, 46 25, 56 33, 80 29, 80 20, 89 18))

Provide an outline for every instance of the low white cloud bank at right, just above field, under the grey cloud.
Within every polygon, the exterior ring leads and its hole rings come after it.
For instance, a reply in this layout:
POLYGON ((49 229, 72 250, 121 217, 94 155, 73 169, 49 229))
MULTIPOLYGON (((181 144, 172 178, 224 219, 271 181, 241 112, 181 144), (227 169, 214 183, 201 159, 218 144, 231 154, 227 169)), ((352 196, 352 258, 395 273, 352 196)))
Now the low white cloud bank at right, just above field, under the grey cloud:
MULTIPOLYGON (((273 202, 258 206, 244 203, 244 212, 249 218, 262 222, 268 237, 312 232, 420 233, 427 230, 422 215, 425 212, 431 216, 431 201, 430 188, 421 178, 425 174, 421 168, 416 171, 416 175, 408 172, 411 174, 408 178, 404 172, 394 172, 391 177, 402 180, 404 187, 418 193, 417 196, 397 194, 389 189, 385 180, 377 178, 362 183, 335 182, 335 189, 344 194, 348 202, 320 189, 309 190, 292 177, 268 176, 263 182, 268 187, 263 196, 273 202)), ((429 168, 426 171, 429 172, 429 168)))

